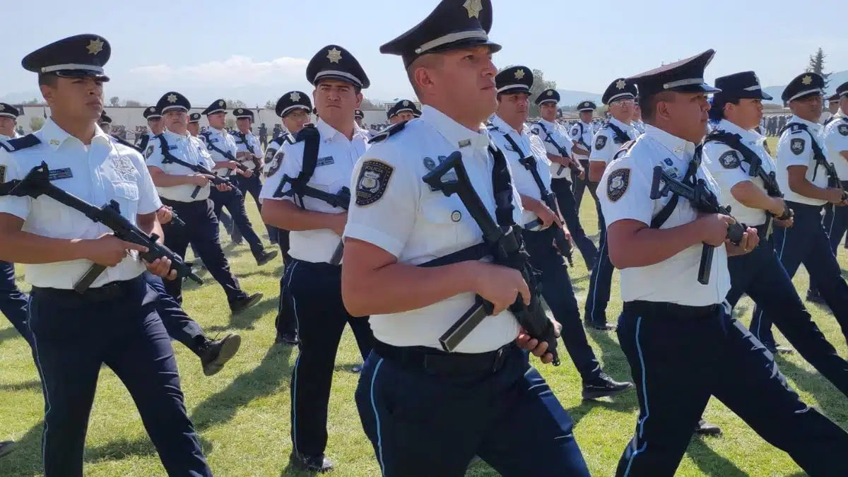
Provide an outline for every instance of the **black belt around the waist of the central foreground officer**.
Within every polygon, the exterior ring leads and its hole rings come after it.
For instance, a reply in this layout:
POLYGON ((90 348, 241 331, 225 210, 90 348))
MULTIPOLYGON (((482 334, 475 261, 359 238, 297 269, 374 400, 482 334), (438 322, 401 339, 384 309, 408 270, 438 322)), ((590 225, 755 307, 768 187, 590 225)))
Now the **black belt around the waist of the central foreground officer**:
POLYGON ((394 346, 374 341, 374 352, 402 368, 431 374, 496 373, 517 350, 514 343, 485 353, 447 353, 426 346, 394 346))

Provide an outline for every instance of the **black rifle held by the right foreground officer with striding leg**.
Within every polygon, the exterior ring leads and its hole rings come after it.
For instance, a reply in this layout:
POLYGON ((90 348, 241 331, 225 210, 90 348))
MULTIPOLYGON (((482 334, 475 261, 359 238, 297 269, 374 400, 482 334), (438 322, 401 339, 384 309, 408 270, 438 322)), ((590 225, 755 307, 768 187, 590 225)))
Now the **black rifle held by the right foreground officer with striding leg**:
MULTIPOLYGON (((716 194, 713 194, 710 188, 706 187, 704 179, 698 179, 694 187, 689 186, 668 175, 666 171, 662 170, 662 166, 655 166, 654 180, 650 184, 650 198, 654 200, 660 199, 661 197, 665 197, 669 191, 672 194, 683 197, 683 199, 689 199, 695 210, 707 214, 730 216, 730 208, 722 207, 718 204, 716 194), (661 186, 661 184, 665 185, 661 186)), ((747 227, 745 227, 745 224, 735 222, 735 220, 733 224, 728 225, 728 239, 730 239, 731 244, 739 245, 742 241, 742 234, 745 233, 747 227)), ((698 282, 701 284, 706 285, 710 283, 712 255, 714 251, 715 247, 710 244, 704 244, 704 250, 700 254, 700 267, 698 268, 698 282)))

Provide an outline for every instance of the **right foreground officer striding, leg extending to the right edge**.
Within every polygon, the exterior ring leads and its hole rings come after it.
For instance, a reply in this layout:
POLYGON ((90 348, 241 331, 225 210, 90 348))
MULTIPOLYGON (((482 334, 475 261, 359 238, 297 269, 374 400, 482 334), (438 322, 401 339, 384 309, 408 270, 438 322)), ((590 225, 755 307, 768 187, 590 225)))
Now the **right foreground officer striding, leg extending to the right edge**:
POLYGON ((734 245, 726 239, 732 217, 701 212, 673 193, 651 199, 656 167, 720 194, 695 154, 707 131, 706 93, 715 92, 703 79, 713 54, 630 78, 639 86, 645 133, 601 180, 610 258, 622 271, 617 334, 639 394, 635 436, 616 475, 671 477, 711 396, 808 474, 843 475, 848 434, 801 401, 724 300, 727 257, 753 250, 756 230, 745 228, 734 245), (704 244, 715 247, 706 284, 698 279, 704 244))

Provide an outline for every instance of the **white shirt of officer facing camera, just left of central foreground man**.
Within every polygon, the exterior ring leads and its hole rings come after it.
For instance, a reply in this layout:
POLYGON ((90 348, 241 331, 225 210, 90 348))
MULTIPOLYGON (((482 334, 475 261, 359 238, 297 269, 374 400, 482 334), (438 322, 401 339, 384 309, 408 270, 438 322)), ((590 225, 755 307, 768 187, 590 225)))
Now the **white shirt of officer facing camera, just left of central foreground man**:
MULTIPOLYGON (((365 153, 367 143, 365 135, 354 132, 353 140, 348 140, 341 132, 323 120, 315 125, 321 133, 321 141, 318 146, 318 162, 315 166, 315 174, 308 182, 310 187, 321 191, 337 194, 339 189, 350 186, 350 177, 354 171, 356 160, 365 153)), ((298 177, 303 169, 304 163, 304 141, 299 143, 285 143, 276 153, 275 160, 282 162, 279 170, 268 177, 262 187, 261 199, 289 200, 299 205, 292 197, 274 197, 276 189, 280 186, 283 176, 298 177)), ((292 188, 291 183, 285 184, 282 193, 292 188)), ((352 192, 352 191, 351 191, 352 192)), ((324 212, 326 214, 341 214, 343 209, 332 207, 323 200, 312 197, 304 197, 304 206, 308 210, 324 212)), ((341 238, 337 233, 328 228, 319 230, 299 230, 289 234, 289 254, 303 261, 329 263, 333 252, 336 251, 341 238)))

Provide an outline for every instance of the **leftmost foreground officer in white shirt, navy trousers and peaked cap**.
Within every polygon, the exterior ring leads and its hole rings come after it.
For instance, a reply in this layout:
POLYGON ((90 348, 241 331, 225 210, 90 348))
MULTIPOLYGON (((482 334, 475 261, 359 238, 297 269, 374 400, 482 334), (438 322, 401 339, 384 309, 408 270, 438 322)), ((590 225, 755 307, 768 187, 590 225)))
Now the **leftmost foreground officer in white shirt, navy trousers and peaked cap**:
MULTIPOLYGON (((54 186, 93 204, 114 200, 145 233, 162 236, 161 203, 140 154, 97 126, 109 42, 77 35, 28 54, 51 117, 35 134, 0 143, 0 182, 52 166, 54 186)), ((7 188, 8 188, 8 184, 7 188)), ((11 190, 5 190, 8 194, 11 190)), ((44 474, 82 475, 86 427, 105 363, 126 385, 169 474, 212 475, 180 389, 174 350, 142 278, 168 278, 170 261, 142 263, 144 247, 48 197, 0 196, 0 258, 28 264, 33 357, 42 379, 44 474), (82 293, 74 283, 92 264, 107 267, 82 293)))

